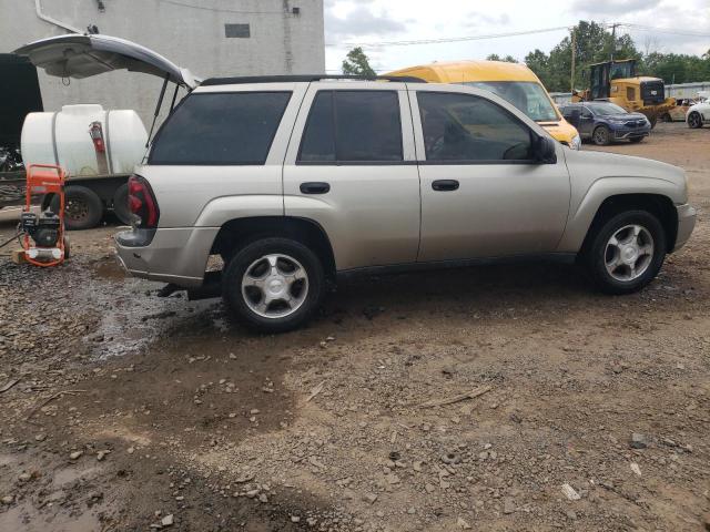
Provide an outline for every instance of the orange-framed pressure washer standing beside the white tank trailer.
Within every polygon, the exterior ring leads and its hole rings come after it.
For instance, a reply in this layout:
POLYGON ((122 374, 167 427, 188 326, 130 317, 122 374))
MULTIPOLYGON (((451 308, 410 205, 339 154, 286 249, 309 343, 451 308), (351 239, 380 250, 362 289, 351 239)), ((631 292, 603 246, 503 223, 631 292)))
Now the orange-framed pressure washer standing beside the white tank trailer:
POLYGON ((18 227, 22 238, 24 259, 34 266, 58 266, 69 258, 69 243, 64 238, 64 181, 67 175, 60 166, 30 164, 27 168, 24 208, 18 227), (51 208, 31 212, 31 198, 38 194, 55 194, 59 212, 51 208))

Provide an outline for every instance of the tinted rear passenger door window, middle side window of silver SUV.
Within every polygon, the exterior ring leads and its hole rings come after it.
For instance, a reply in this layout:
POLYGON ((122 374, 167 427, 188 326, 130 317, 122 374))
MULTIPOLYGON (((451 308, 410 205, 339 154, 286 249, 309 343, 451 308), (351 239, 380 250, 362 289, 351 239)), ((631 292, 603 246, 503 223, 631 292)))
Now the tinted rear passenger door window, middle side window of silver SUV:
POLYGON ((301 143, 302 163, 403 161, 396 91, 320 91, 301 143))

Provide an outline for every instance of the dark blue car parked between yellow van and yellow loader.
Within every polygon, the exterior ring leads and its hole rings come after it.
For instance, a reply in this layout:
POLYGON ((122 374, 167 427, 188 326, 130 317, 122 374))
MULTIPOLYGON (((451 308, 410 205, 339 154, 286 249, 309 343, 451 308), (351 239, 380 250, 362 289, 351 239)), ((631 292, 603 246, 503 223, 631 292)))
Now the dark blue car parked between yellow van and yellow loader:
POLYGON ((651 123, 643 114, 629 113, 616 103, 568 103, 560 111, 577 127, 582 141, 590 140, 598 146, 626 140, 641 142, 651 131, 651 123))

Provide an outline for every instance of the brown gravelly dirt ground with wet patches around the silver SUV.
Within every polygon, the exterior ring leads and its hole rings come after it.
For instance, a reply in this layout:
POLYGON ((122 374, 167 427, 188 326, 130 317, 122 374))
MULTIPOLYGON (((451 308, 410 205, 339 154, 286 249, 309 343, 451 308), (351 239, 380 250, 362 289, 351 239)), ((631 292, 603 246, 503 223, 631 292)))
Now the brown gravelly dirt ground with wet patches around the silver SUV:
POLYGON ((114 226, 51 270, 2 249, 0 531, 710 530, 710 129, 606 150, 682 166, 699 209, 632 296, 367 277, 255 336, 124 278, 114 226))

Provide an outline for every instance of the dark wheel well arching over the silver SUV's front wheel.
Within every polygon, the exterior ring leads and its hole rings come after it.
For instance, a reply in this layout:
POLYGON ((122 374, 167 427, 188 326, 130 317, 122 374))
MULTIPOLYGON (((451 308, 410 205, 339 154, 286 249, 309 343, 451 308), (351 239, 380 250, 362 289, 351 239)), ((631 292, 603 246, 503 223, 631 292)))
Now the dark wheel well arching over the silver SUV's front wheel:
POLYGON ((625 211, 648 211, 655 215, 666 232, 668 253, 676 247, 678 236, 678 214, 673 202, 659 194, 619 194, 607 197, 599 206, 595 219, 589 226, 582 249, 591 242, 596 229, 609 217, 625 211))

